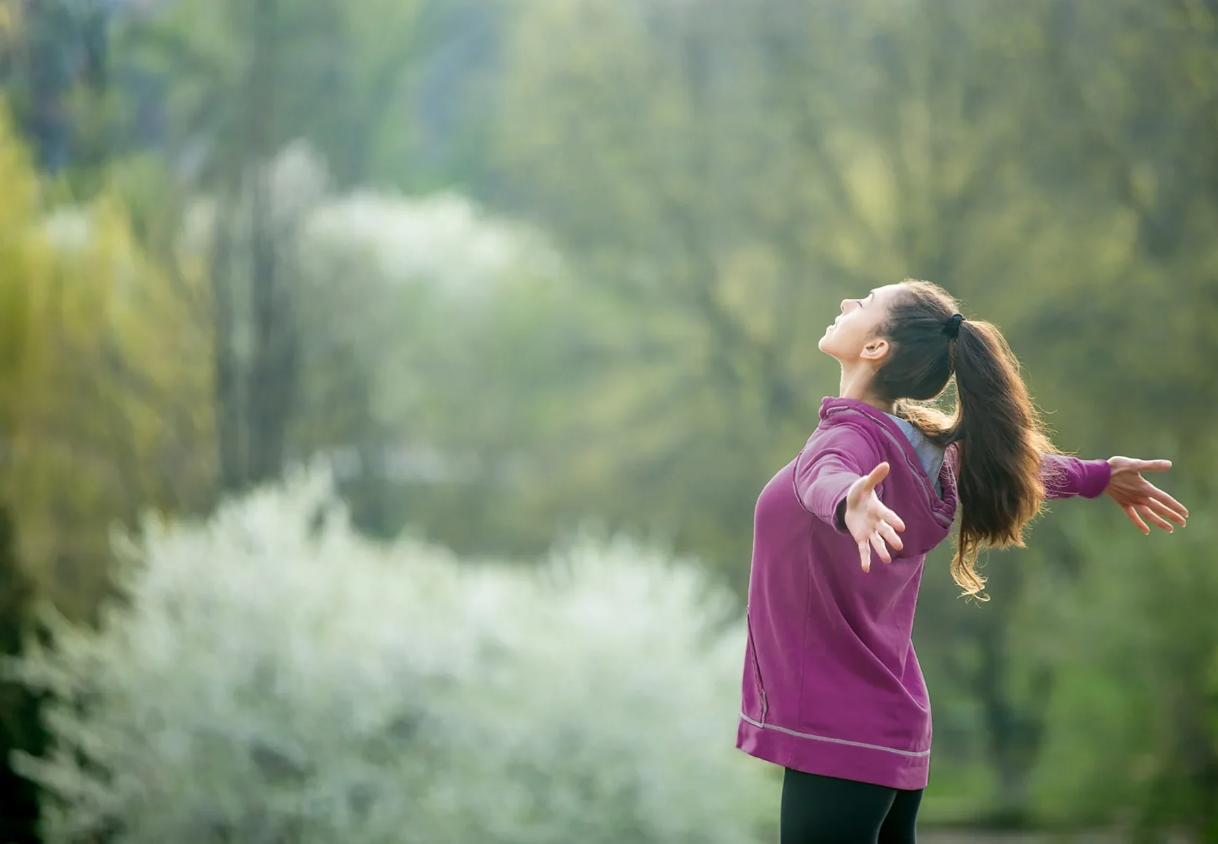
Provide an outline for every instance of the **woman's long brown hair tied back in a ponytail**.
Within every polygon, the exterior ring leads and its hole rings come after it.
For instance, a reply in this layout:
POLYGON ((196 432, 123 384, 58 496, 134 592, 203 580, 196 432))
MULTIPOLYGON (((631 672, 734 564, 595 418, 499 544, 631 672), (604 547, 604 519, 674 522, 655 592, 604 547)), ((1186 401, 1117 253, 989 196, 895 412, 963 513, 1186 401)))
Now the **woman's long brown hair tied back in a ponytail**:
POLYGON ((966 594, 987 600, 977 554, 1023 546, 1023 529, 1045 501, 1041 454, 1056 449, 998 328, 952 319, 959 306, 938 285, 906 279, 901 287, 879 330, 890 351, 872 390, 933 442, 956 443, 960 532, 951 576, 966 594), (956 408, 946 414, 926 402, 952 375, 956 408))

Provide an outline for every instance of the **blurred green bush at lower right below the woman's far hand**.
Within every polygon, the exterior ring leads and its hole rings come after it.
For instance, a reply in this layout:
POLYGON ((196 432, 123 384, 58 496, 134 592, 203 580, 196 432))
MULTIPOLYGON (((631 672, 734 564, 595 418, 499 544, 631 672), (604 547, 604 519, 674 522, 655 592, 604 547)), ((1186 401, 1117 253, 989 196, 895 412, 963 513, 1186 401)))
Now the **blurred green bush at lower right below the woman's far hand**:
POLYGON ((1097 563, 1056 597, 1057 693, 1035 798, 1056 817, 1119 818, 1152 834, 1218 831, 1214 521, 1123 542, 1075 525, 1097 563), (1132 547, 1133 546, 1133 547, 1132 547))

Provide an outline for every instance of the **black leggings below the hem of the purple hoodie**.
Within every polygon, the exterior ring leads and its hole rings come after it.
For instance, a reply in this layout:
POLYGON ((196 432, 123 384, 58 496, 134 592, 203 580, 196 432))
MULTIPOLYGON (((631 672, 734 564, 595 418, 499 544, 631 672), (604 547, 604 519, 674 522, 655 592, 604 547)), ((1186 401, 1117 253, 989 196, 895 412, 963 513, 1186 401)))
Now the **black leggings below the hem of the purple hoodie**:
POLYGON ((922 789, 786 771, 781 844, 914 844, 922 789))

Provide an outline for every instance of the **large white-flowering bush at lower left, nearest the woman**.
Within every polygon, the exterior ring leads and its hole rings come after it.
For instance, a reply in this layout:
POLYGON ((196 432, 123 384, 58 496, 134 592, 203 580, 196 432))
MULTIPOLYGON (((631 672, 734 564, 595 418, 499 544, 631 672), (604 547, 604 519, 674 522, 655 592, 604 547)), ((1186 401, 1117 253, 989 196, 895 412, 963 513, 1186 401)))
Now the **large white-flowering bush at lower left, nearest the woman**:
POLYGON ((754 835, 743 632, 693 566, 625 542, 540 569, 375 544, 320 473, 119 550, 97 628, 52 620, 11 666, 54 699, 52 750, 16 760, 49 843, 754 835))

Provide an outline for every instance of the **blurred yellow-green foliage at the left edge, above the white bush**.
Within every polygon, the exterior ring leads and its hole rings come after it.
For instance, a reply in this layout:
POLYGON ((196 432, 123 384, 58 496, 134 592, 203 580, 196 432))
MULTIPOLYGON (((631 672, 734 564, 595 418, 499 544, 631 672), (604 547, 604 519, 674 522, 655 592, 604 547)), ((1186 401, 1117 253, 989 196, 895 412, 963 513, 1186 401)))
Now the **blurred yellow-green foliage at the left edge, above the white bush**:
POLYGON ((6 480, 27 565, 63 609, 88 615, 113 522, 199 507, 214 485, 206 298, 199 275, 147 261, 105 196, 55 209, 37 236, 52 274, 26 279, 41 298, 39 363, 6 480))

